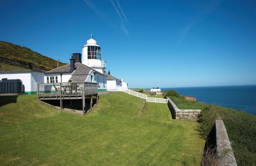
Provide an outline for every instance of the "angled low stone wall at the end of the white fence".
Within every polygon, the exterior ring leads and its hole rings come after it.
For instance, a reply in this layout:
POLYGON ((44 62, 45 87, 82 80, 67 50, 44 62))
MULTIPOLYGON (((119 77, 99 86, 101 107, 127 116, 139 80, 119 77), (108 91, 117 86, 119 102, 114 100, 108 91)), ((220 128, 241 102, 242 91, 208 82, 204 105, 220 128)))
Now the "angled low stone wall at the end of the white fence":
POLYGON ((180 120, 187 120, 187 121, 199 121, 199 117, 201 115, 201 110, 186 110, 186 109, 179 109, 168 96, 168 107, 172 114, 172 119, 180 119, 180 120))

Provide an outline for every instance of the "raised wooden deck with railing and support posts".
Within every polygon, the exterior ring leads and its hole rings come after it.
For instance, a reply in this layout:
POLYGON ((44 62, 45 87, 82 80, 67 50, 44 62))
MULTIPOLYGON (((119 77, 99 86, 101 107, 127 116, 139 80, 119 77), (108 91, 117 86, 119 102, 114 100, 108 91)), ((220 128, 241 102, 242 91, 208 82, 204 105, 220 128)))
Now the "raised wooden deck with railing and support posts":
POLYGON ((85 99, 97 96, 97 83, 89 82, 60 82, 60 83, 37 83, 37 100, 60 100, 62 108, 63 100, 82 99, 85 113, 85 99))

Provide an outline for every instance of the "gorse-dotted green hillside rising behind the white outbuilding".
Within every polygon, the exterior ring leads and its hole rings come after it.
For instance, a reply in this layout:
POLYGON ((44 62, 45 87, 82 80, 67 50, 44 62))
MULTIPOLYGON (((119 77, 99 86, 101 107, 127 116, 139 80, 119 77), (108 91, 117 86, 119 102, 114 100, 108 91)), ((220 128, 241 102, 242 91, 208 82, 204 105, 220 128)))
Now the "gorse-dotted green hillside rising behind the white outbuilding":
MULTIPOLYGON (((56 68, 58 63, 58 61, 34 52, 25 46, 19 46, 3 41, 0 41, 0 56, 43 67, 47 70, 56 68)), ((59 62, 59 66, 63 66, 65 64, 66 63, 59 62)))

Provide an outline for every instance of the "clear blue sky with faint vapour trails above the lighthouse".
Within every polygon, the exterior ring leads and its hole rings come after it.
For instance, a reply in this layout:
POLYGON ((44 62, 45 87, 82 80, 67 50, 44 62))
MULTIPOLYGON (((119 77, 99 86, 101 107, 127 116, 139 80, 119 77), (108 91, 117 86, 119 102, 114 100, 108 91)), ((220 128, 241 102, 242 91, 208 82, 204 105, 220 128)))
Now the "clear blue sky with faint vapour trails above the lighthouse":
POLYGON ((256 84, 254 0, 1 0, 0 40, 69 63, 93 34, 129 87, 256 84))

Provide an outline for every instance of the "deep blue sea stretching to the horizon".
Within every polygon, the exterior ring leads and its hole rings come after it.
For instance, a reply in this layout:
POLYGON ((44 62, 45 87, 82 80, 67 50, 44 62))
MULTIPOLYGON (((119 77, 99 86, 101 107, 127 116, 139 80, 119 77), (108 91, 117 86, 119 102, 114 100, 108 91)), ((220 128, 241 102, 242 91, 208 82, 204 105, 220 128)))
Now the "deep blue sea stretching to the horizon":
POLYGON ((256 116, 256 85, 161 88, 171 89, 195 97, 199 102, 240 109, 256 116))

